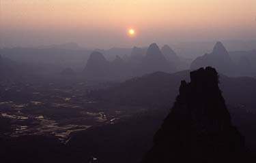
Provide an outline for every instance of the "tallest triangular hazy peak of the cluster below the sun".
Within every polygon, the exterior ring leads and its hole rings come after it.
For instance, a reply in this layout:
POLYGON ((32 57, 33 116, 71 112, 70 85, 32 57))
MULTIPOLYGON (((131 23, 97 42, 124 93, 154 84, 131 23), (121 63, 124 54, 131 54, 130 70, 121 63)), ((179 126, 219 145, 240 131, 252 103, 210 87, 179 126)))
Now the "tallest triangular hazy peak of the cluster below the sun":
POLYGON ((137 75, 145 75, 156 71, 173 72, 174 67, 162 55, 156 43, 152 43, 137 69, 137 75))

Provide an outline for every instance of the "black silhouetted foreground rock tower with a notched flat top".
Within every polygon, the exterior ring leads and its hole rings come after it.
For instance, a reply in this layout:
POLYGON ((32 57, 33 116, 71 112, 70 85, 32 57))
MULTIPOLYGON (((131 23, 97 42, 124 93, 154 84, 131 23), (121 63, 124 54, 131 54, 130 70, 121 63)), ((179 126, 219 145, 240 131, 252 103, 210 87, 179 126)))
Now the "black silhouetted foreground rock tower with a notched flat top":
POLYGON ((207 67, 181 82, 171 113, 154 136, 148 162, 242 162, 244 139, 231 124, 218 88, 218 73, 207 67))

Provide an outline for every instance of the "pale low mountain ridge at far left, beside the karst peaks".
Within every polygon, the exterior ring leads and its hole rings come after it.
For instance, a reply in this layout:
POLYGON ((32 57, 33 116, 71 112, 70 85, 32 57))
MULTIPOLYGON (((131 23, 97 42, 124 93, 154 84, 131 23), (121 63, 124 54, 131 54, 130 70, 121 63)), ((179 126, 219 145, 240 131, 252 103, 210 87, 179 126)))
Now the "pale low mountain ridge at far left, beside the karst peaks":
MULTIPOLYGON (((0 54, 14 62, 23 65, 41 67, 44 73, 59 74, 66 67, 83 69, 85 60, 88 60, 91 50, 77 48, 75 44, 63 44, 62 46, 42 46, 38 48, 3 48, 0 54)), ((34 70, 34 69, 33 69, 34 70)))

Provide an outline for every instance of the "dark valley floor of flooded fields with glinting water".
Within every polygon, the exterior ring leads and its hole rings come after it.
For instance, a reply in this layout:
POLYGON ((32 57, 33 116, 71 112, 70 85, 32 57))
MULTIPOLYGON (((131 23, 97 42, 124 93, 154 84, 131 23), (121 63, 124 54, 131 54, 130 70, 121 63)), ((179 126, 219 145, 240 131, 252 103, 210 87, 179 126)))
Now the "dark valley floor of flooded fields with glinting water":
POLYGON ((64 85, 2 82, 1 89, 0 117, 10 120, 11 128, 3 134, 10 137, 54 135, 65 142, 73 132, 115 124, 131 114, 88 98, 87 93, 95 87, 81 82, 64 85))

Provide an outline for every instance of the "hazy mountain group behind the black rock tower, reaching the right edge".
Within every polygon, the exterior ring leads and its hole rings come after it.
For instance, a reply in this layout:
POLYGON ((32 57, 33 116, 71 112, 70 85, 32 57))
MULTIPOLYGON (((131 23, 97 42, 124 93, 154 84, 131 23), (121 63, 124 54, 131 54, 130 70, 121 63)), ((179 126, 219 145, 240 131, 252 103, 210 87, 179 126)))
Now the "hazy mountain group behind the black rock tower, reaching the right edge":
POLYGON ((256 51, 227 52, 223 43, 217 42, 209 54, 197 57, 190 69, 212 66, 229 76, 256 76, 256 51), (233 56, 233 59, 231 58, 233 56))

